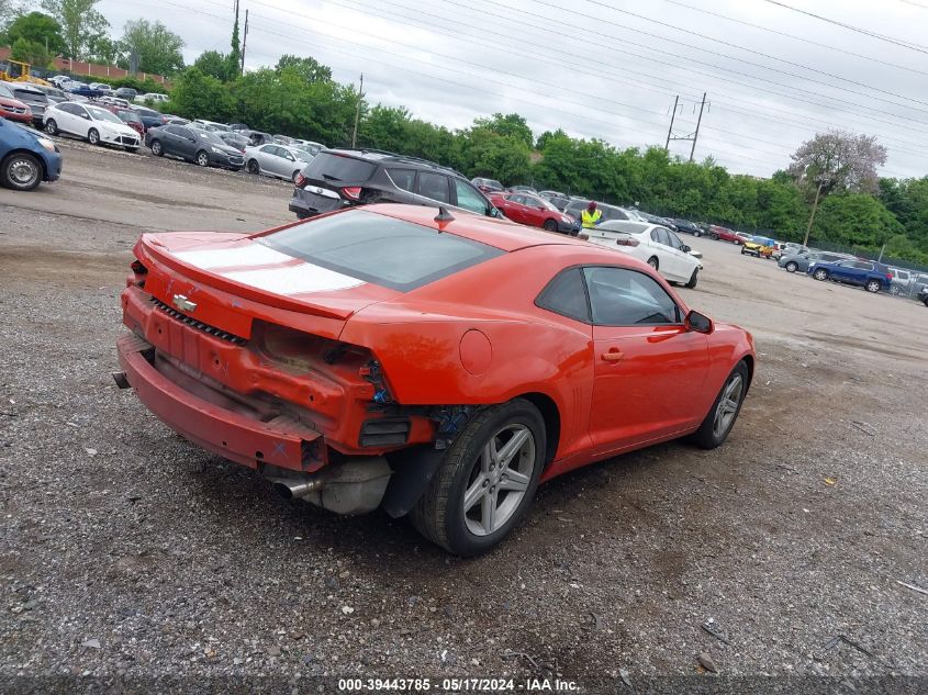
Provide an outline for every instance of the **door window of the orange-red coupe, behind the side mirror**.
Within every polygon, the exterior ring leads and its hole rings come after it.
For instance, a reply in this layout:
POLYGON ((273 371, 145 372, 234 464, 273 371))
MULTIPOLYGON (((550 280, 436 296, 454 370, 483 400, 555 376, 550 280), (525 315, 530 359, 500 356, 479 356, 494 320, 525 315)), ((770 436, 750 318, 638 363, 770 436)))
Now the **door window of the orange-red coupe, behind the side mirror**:
POLYGON ((627 268, 583 269, 593 324, 637 326, 682 323, 680 307, 650 276, 627 268))

